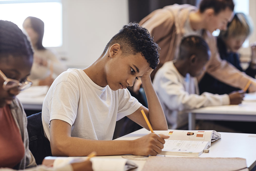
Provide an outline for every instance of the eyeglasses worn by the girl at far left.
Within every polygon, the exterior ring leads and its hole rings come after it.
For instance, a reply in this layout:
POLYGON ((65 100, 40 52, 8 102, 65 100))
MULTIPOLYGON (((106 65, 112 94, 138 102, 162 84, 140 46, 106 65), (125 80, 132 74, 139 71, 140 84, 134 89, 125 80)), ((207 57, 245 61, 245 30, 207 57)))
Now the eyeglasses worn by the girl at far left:
POLYGON ((3 89, 6 91, 14 87, 18 87, 20 91, 23 91, 32 85, 32 82, 28 77, 24 82, 20 83, 16 79, 7 78, 1 70, 0 70, 0 76, 4 79, 3 89))

